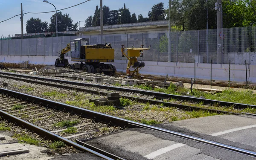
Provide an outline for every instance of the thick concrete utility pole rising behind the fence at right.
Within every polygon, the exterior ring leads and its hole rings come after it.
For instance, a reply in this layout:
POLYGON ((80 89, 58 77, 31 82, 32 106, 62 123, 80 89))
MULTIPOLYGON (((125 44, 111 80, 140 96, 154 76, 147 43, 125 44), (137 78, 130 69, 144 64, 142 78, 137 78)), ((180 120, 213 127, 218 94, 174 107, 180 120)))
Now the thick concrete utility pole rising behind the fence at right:
POLYGON ((222 4, 221 0, 215 3, 215 10, 217 10, 217 63, 222 64, 222 48, 223 48, 223 26, 222 26, 222 4))

